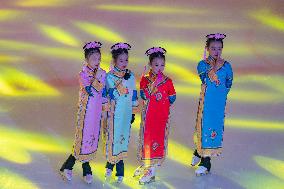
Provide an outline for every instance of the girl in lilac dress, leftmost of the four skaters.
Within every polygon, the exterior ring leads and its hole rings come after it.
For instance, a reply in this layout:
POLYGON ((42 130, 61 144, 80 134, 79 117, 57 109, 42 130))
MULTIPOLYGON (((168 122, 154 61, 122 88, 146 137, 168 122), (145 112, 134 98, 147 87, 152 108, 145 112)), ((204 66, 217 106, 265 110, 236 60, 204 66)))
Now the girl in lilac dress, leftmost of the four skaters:
POLYGON ((101 45, 94 41, 83 47, 86 65, 79 74, 80 91, 73 153, 60 169, 63 178, 69 181, 76 160, 83 163, 84 181, 90 184, 93 180, 89 161, 94 159, 98 148, 102 109, 107 104, 106 72, 99 67, 101 45))

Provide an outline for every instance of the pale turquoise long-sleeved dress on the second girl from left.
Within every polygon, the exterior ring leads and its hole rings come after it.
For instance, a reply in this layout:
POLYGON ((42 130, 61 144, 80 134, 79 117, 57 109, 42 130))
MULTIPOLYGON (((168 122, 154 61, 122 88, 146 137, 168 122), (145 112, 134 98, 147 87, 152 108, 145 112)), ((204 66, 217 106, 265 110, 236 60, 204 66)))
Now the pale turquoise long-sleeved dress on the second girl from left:
POLYGON ((125 70, 114 67, 107 73, 106 87, 110 110, 104 129, 105 153, 109 163, 116 164, 127 157, 132 114, 138 111, 135 77, 124 79, 125 70))

